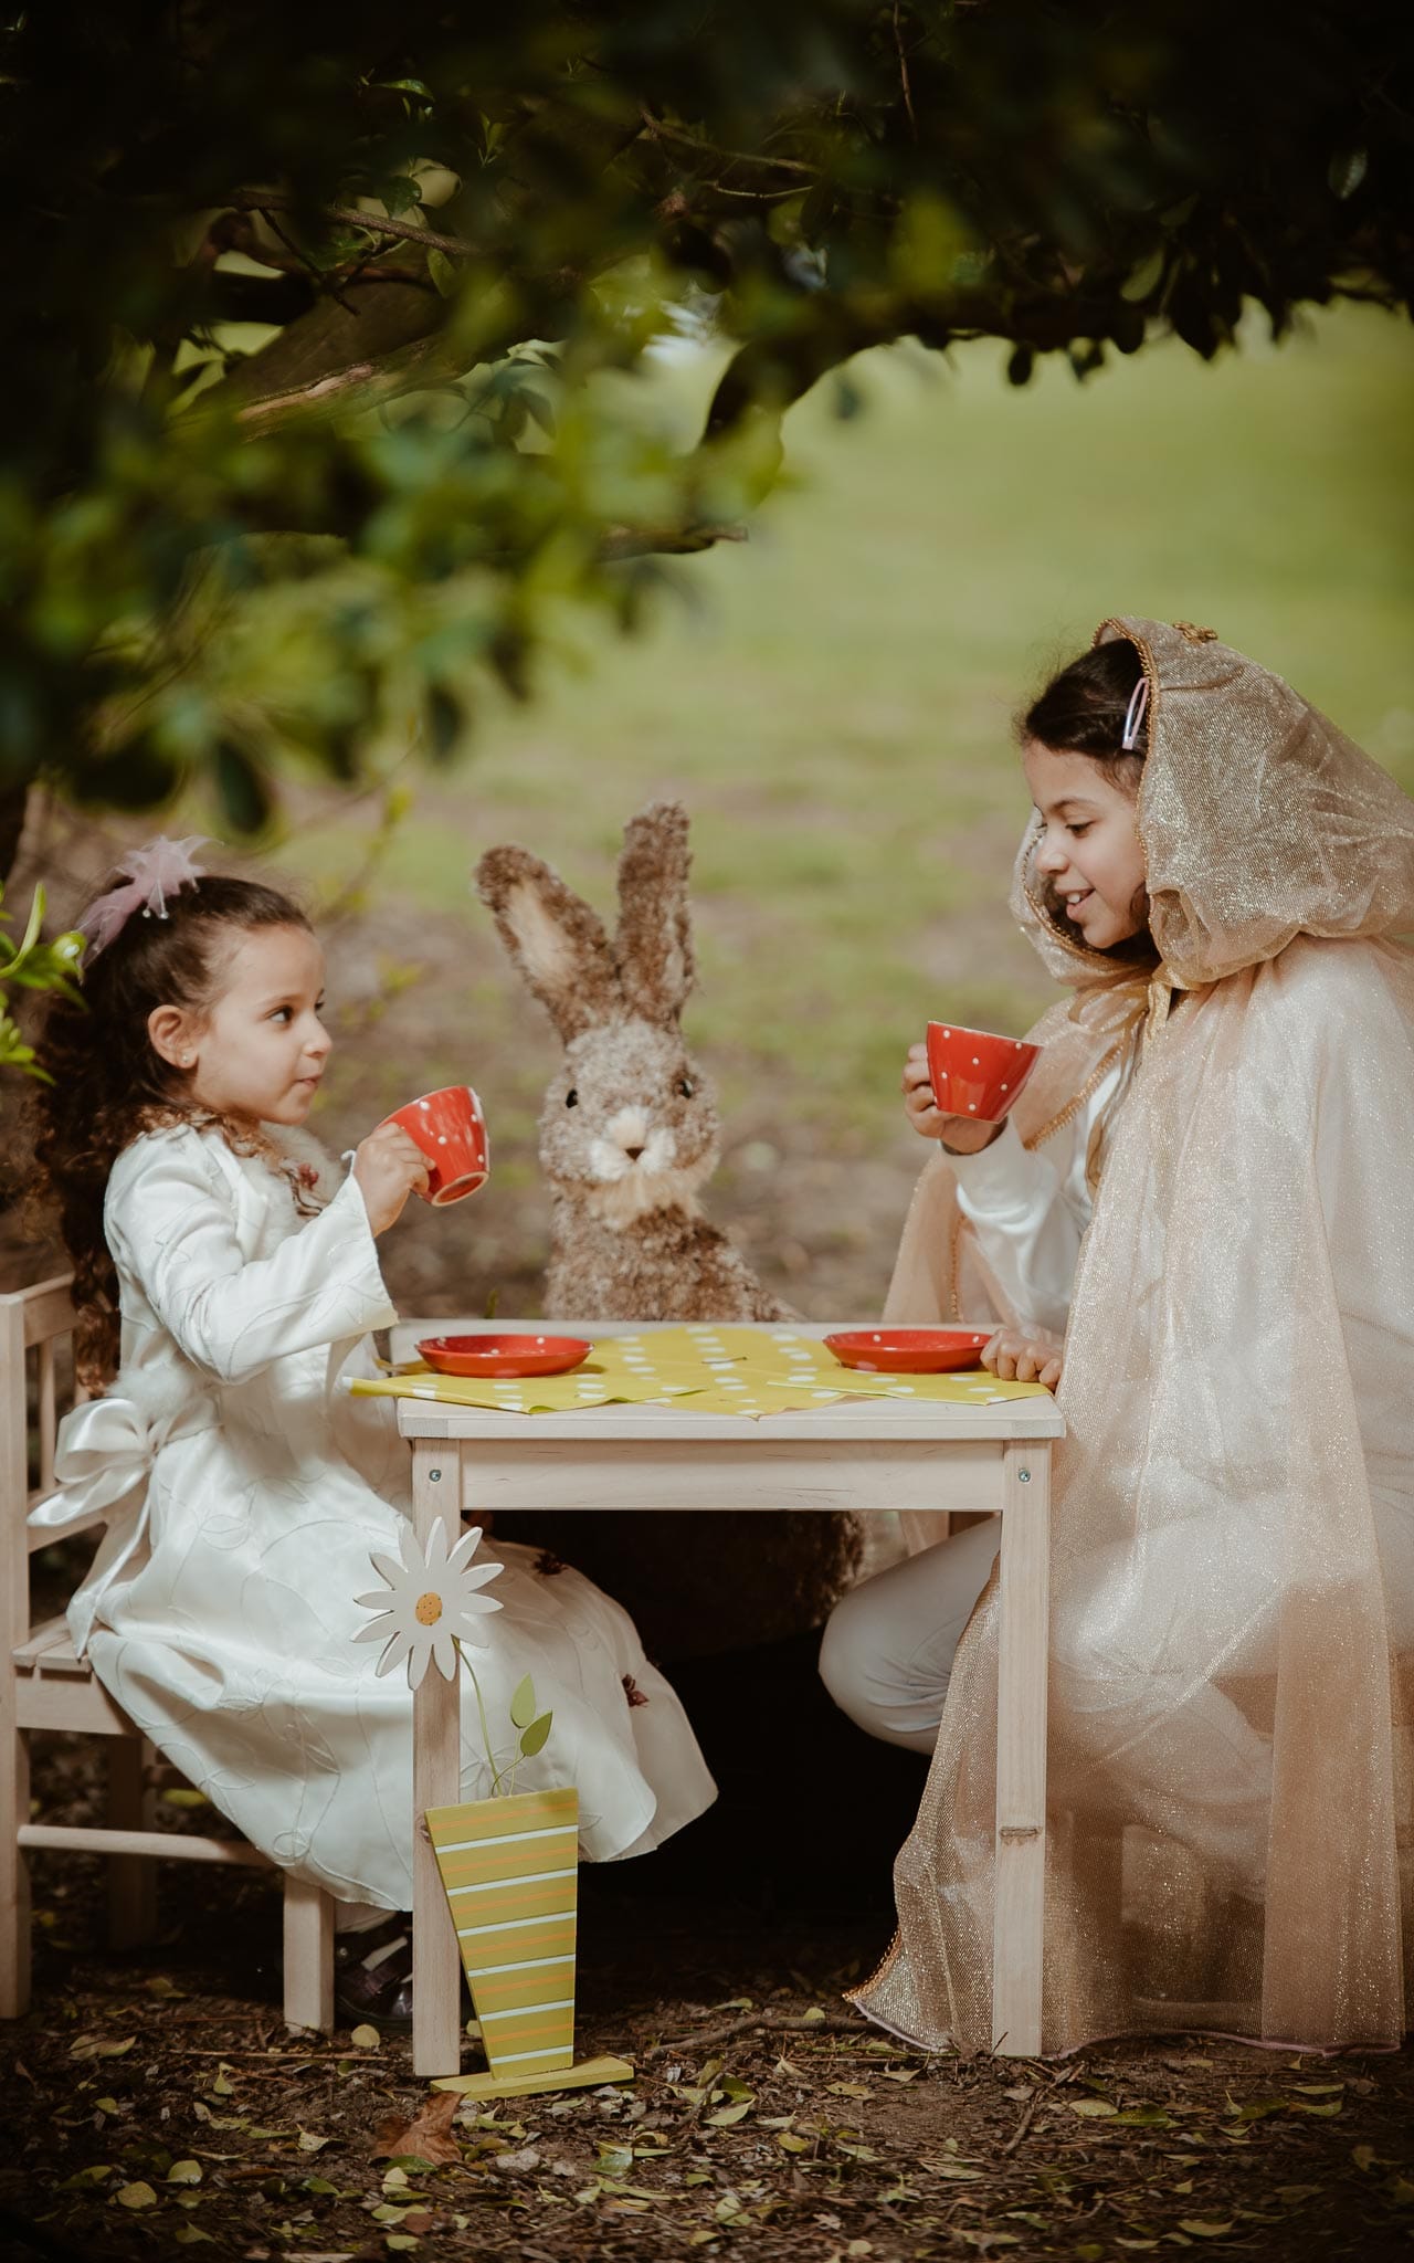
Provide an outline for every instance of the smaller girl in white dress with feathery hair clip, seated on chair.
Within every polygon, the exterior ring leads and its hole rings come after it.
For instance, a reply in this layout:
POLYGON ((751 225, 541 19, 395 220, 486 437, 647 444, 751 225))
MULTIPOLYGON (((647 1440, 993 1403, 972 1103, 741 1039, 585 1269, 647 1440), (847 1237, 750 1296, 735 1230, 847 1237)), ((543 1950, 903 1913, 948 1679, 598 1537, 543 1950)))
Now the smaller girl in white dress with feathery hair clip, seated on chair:
MULTIPOLYGON (((339 1177, 301 1129, 328 1064, 324 955, 287 896, 161 842, 86 914, 81 1005, 50 1012, 36 1163, 75 1267, 77 1356, 102 1396, 59 1439, 57 1537, 106 1537, 75 1647, 145 1736, 353 1928, 412 1899, 412 1693, 378 1679, 355 1604, 398 1555, 409 1457, 391 1401, 348 1396, 398 1315, 378 1236, 425 1184, 380 1125, 339 1177)), ((627 1614, 527 1548, 493 1548, 480 1620, 493 1720, 534 1677, 554 1731, 523 1788, 579 1788, 581 1851, 640 1853, 715 1788, 627 1614)), ((466 1679, 466 1677, 464 1677, 466 1679)), ((491 1790, 468 1693, 464 1797, 491 1790)), ((382 1946, 389 1946, 382 1942, 382 1946)), ((360 1967, 355 1969, 362 1971, 360 1967)), ((355 2010, 407 2012, 407 1957, 355 2010)))

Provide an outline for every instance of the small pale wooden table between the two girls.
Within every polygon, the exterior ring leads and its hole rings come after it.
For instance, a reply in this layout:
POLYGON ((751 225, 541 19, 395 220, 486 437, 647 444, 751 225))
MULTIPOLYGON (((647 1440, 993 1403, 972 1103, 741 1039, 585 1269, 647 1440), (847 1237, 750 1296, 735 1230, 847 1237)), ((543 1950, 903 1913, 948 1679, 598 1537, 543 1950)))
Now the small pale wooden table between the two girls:
MULTIPOLYGON (((536 1328, 543 1322, 403 1322, 394 1356, 428 1333, 536 1328)), ((563 1333, 629 1335, 638 1322, 563 1333)), ((835 1326, 835 1324, 830 1324, 835 1326)), ((826 1335, 801 1326, 801 1335, 826 1335)), ((441 1521, 495 1509, 943 1509, 1000 1512, 1000 1679, 993 2046, 1041 2048, 1045 1892, 1045 1661, 1050 1609, 1050 1446, 1066 1426, 1052 1399, 903 1405, 844 1399, 760 1421, 692 1414, 690 1403, 502 1414, 398 1399, 412 1444, 423 1546, 441 1521)), ((462 1797, 457 1684, 428 1672, 414 1700, 412 1806, 462 1797)), ((459 1955, 432 1847, 414 1831, 414 2025, 419 2075, 457 2071, 459 1955)))

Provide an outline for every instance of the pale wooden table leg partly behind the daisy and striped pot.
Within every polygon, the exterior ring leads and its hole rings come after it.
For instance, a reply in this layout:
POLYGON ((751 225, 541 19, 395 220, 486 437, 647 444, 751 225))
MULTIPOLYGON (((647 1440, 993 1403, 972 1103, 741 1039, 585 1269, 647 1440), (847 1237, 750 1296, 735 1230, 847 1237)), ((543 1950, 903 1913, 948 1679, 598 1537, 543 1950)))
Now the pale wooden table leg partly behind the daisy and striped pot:
MULTIPOLYGON (((432 1525, 448 1528, 448 1550, 462 1518, 462 1448, 443 1439, 414 1439, 412 1512, 425 1550, 432 1525)), ((423 1833, 428 1808, 462 1799, 462 1672, 443 1681, 434 1666, 412 1697, 412 2071, 462 2071, 462 1957, 452 1912, 441 1890, 432 1842, 423 1833)))

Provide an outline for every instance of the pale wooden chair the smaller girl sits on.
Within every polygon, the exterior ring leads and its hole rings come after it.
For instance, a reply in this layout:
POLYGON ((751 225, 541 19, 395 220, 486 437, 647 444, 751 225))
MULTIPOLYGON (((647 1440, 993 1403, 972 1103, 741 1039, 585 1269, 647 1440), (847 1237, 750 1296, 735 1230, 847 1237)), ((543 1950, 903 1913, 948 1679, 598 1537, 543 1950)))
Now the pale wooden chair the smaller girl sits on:
MULTIPOLYGON (((72 1849, 109 1858, 109 1937, 115 1948, 152 1939, 154 1860, 271 1867, 247 1840, 152 1829, 161 1781, 152 1745, 113 1704, 88 1663, 75 1657, 66 1620, 50 1618, 41 1627, 29 1623, 29 1557, 48 1537, 32 1534, 25 1516, 54 1489, 54 1353, 75 1324, 68 1290, 70 1283, 61 1276, 0 1297, 0 1591, 7 1614, 0 1675, 0 2019, 18 2019, 29 2005, 29 1853, 72 1849), (32 1351, 38 1367, 34 1460, 32 1351), (32 1466, 38 1471, 36 1491, 29 1491, 32 1466), (32 1729, 106 1738, 102 1826, 29 1822, 32 1729)), ((333 1919, 335 1903, 328 1894, 285 1874, 285 2019, 296 2028, 328 2032, 335 2023, 333 1919)))

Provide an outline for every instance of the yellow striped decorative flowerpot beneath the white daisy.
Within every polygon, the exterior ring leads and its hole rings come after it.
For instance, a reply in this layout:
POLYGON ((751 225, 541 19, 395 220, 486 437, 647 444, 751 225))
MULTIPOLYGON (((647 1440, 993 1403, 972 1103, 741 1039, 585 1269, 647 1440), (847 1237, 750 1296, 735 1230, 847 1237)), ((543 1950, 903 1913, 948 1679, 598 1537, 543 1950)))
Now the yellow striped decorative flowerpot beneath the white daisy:
POLYGON ((579 1792, 514 1792, 428 1808, 493 2075, 575 2059, 579 1792))

